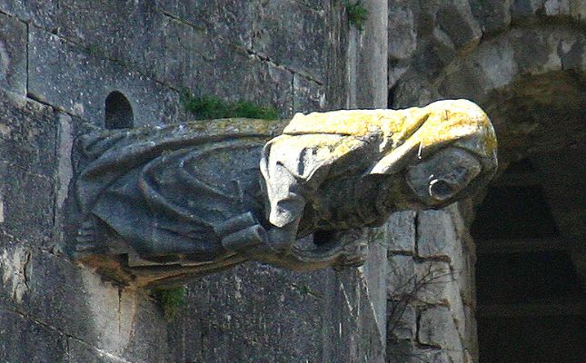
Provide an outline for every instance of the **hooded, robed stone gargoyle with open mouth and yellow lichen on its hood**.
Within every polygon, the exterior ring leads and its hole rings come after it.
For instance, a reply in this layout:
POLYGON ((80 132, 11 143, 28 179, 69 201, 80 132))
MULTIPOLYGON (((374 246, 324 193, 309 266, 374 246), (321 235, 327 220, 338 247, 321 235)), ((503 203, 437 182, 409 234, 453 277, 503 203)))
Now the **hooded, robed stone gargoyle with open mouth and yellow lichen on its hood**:
POLYGON ((466 100, 299 113, 286 123, 224 119, 80 137, 74 260, 138 286, 246 260, 358 265, 354 240, 323 236, 471 196, 497 166, 492 124, 466 100))

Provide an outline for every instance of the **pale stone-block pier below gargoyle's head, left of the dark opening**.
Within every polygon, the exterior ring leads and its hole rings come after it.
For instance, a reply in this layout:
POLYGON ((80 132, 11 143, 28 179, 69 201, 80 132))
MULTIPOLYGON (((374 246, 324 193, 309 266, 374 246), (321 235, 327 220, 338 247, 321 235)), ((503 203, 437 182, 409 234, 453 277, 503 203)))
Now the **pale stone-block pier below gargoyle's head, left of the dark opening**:
POLYGON ((475 253, 461 208, 452 204, 440 211, 392 215, 387 226, 389 362, 478 360, 475 253))

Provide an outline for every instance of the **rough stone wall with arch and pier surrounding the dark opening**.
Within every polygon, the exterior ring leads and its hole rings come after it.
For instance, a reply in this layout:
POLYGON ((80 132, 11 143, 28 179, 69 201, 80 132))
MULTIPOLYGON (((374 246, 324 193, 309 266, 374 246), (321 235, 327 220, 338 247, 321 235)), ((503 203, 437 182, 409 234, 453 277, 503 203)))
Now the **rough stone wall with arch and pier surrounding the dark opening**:
MULTIPOLYGON (((583 145, 583 1, 390 0, 388 14, 389 107, 479 103, 495 125, 501 172, 528 154, 583 145)), ((391 361, 478 359, 475 252, 464 227, 473 210, 462 206, 395 217, 389 327, 399 329, 389 334, 391 361), (397 233, 403 223, 412 230, 397 233), (444 275, 431 294, 417 289, 429 266, 444 275)))

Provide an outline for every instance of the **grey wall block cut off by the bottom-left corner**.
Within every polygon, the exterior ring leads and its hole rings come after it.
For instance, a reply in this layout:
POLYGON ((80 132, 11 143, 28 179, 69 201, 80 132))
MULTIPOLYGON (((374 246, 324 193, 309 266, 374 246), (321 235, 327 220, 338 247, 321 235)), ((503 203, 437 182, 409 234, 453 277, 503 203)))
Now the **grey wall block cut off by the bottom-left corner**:
POLYGON ((15 312, 0 310, 0 359, 3 362, 67 361, 63 334, 15 312))

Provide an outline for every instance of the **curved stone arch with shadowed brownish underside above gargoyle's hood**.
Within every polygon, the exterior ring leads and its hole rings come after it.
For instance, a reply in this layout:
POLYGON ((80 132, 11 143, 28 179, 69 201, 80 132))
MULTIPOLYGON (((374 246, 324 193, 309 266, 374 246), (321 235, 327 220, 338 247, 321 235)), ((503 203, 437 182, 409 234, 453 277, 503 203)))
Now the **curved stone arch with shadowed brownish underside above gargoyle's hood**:
POLYGON ((584 139, 584 44, 583 32, 571 26, 513 28, 455 57, 436 76, 408 71, 394 106, 471 99, 491 116, 503 161, 559 149, 584 139))

